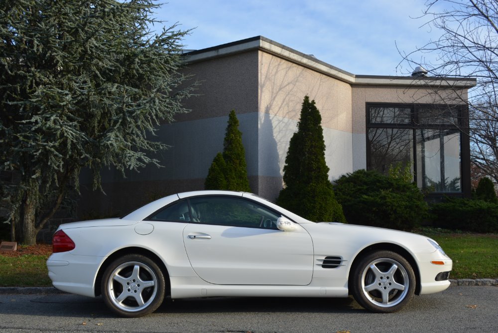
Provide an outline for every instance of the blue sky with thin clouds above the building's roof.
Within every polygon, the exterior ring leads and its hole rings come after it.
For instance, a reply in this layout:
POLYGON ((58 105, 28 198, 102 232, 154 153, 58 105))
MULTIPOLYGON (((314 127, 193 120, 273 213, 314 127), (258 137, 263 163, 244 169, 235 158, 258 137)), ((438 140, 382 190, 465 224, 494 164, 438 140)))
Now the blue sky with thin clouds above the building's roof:
POLYGON ((413 68, 400 64, 399 52, 439 37, 423 26, 425 0, 166 1, 155 16, 164 25, 193 29, 184 38, 186 49, 261 35, 359 75, 409 74, 413 68))

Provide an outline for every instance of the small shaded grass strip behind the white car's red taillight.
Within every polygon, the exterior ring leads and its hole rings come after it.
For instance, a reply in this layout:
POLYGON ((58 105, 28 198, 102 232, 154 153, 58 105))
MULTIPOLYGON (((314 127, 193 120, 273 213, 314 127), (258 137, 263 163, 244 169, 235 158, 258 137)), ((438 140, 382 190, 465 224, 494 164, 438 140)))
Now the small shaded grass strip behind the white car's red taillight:
POLYGON ((49 287, 46 261, 48 256, 22 255, 5 257, 0 255, 0 287, 49 287))

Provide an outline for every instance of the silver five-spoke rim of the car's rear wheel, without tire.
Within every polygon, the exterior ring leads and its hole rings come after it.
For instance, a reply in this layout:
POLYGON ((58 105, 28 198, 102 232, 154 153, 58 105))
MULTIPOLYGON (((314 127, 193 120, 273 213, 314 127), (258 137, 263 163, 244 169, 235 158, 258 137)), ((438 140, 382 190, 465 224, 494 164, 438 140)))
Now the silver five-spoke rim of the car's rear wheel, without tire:
POLYGON ((147 308, 157 295, 157 276, 147 265, 130 261, 118 266, 107 281, 111 302, 125 312, 147 308))

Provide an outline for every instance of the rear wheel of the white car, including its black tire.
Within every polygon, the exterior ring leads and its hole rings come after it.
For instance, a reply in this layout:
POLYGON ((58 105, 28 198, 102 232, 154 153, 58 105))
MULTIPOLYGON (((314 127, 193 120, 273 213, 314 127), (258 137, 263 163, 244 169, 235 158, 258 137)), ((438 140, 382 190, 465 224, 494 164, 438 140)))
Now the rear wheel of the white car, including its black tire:
POLYGON ((151 259, 128 254, 113 261, 101 282, 104 302, 121 317, 141 317, 154 312, 164 300, 164 275, 151 259))

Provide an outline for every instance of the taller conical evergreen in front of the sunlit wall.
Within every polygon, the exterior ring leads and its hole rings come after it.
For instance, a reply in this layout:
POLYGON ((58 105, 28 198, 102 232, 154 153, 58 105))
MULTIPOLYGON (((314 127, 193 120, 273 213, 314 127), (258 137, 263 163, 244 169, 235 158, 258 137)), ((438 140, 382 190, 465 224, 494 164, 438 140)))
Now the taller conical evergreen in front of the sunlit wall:
POLYGON ((315 101, 304 97, 297 132, 292 136, 277 204, 311 221, 341 221, 344 214, 328 179, 322 117, 315 101))

